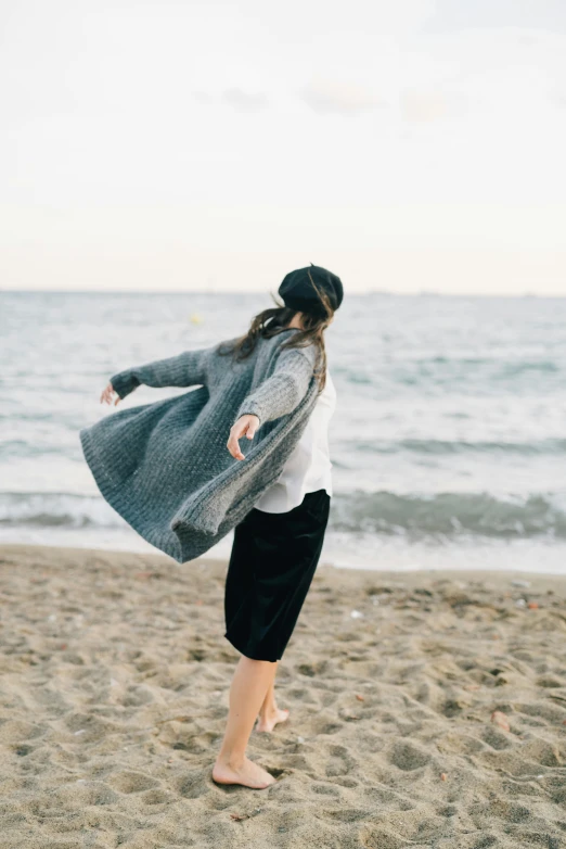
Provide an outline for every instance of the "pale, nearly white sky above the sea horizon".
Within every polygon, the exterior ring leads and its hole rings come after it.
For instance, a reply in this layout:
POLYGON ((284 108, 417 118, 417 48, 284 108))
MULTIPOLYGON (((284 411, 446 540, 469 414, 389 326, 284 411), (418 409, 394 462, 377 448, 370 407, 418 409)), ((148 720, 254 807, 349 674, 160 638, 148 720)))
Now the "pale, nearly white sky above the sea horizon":
POLYGON ((566 294, 564 0, 2 0, 0 289, 566 294))

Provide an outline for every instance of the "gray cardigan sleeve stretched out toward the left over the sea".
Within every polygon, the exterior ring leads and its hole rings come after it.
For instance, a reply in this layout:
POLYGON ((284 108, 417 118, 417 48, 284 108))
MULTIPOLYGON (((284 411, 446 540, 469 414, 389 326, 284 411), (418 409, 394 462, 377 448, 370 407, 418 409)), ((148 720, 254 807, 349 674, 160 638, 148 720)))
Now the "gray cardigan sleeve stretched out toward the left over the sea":
POLYGON ((206 358, 210 349, 183 351, 177 356, 156 359, 143 366, 133 366, 114 375, 110 382, 120 398, 125 398, 141 383, 160 387, 194 387, 206 382, 206 358))

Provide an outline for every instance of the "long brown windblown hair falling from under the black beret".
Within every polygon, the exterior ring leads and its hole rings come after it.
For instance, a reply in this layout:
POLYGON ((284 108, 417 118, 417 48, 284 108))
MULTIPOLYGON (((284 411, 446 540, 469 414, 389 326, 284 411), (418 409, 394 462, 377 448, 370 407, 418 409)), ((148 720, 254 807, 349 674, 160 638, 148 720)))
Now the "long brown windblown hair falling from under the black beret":
MULTIPOLYGON (((283 342, 281 350, 286 347, 306 347, 307 345, 317 345, 317 359, 314 363, 314 376, 319 382, 319 393, 326 384, 326 349, 324 346, 324 330, 331 324, 334 309, 330 303, 326 292, 316 286, 309 271, 309 277, 321 302, 320 313, 303 313, 303 329, 297 329, 291 338, 283 342)), ((239 337, 233 342, 221 342, 218 346, 219 354, 232 354, 234 359, 241 360, 248 357, 258 339, 270 339, 287 329, 297 309, 292 309, 281 303, 275 295, 271 295, 275 306, 262 309, 252 319, 249 330, 244 335, 239 337)))

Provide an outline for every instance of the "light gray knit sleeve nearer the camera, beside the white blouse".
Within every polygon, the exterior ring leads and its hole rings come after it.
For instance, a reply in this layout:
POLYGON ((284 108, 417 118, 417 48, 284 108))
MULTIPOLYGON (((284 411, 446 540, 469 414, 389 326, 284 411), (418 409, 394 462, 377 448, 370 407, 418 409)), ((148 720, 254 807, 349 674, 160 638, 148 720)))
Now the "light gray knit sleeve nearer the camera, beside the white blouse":
POLYGON ((292 413, 307 394, 314 356, 313 345, 282 351, 271 377, 244 398, 234 421, 241 416, 250 415, 257 416, 261 424, 292 413))

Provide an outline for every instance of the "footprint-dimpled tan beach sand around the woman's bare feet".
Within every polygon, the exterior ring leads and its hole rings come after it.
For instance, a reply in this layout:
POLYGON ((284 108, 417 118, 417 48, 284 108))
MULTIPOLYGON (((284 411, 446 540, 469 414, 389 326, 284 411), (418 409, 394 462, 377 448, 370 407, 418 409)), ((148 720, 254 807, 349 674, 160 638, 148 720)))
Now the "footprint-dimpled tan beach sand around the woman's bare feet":
POLYGON ((210 776, 226 563, 0 566, 1 849, 566 846, 564 579, 321 563, 278 671, 290 720, 248 750, 278 781, 252 790, 210 776))

